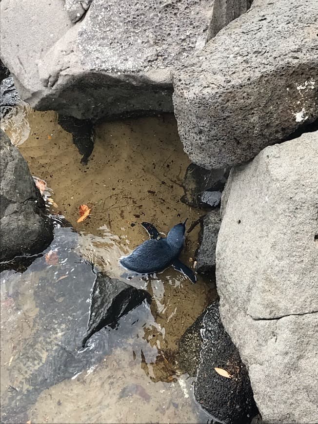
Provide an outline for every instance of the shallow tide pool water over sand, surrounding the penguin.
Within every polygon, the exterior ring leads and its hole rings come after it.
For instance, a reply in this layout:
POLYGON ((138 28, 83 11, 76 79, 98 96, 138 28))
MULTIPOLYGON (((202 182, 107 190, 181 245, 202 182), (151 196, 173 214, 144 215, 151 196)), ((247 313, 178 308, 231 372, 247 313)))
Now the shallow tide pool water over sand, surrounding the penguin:
MULTIPOLYGON (((167 233, 201 213, 179 201, 189 161, 174 118, 100 123, 87 166, 55 114, 32 112, 29 122, 20 151, 54 191, 52 211, 78 232, 57 228, 25 272, 1 273, 3 422, 207 422, 192 379, 180 375, 178 342, 214 299, 213 287, 172 268, 131 278, 118 264, 148 237, 142 221, 167 233), (93 209, 77 224, 80 204, 93 209), (83 349, 97 270, 146 289, 153 301, 95 333, 83 349)), ((197 243, 194 230, 180 257, 190 267, 197 243)))

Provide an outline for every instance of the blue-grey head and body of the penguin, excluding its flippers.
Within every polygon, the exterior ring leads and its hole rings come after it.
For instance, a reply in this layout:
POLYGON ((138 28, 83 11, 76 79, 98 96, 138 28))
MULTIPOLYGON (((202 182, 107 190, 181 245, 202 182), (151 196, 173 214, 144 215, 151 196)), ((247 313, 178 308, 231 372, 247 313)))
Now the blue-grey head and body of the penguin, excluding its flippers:
POLYGON ((151 274, 168 268, 183 248, 185 222, 175 225, 166 238, 146 240, 119 263, 130 271, 151 274))

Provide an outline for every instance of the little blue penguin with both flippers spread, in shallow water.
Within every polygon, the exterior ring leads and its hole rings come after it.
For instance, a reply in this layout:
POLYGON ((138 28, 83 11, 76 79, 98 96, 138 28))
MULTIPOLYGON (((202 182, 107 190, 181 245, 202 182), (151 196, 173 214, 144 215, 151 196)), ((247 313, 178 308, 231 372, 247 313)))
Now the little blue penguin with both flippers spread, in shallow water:
POLYGON ((175 225, 166 238, 161 238, 152 224, 142 222, 141 225, 148 232, 150 240, 144 241, 130 255, 121 257, 120 265, 139 274, 153 274, 173 266, 195 283, 195 273, 179 261, 185 239, 185 223, 186 220, 175 225))

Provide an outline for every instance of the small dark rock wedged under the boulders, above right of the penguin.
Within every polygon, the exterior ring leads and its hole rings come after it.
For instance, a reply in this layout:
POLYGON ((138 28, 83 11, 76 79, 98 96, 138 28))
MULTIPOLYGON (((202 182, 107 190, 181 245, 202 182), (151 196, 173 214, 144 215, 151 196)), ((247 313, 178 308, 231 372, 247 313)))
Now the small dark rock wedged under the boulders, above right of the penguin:
POLYGON ((191 163, 182 182, 181 202, 195 208, 218 206, 229 172, 227 168, 210 171, 191 163))

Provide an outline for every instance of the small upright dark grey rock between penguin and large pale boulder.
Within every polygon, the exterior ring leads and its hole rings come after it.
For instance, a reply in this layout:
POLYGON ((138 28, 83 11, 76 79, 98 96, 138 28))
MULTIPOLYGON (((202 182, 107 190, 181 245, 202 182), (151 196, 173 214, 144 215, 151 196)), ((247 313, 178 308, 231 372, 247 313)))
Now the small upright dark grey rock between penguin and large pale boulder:
POLYGON ((214 272, 216 265, 216 246, 221 225, 219 209, 211 211, 203 218, 200 231, 200 247, 197 257, 196 270, 200 274, 214 272))

